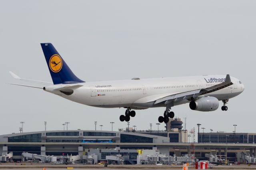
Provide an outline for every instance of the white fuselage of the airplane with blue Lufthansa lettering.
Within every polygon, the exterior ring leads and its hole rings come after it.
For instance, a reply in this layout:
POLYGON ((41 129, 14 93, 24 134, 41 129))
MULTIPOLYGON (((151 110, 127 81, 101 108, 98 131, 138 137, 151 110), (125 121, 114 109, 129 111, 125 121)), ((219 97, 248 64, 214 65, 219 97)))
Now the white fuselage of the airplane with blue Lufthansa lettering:
MULTIPOLYGON (((74 89, 72 95, 65 95, 57 88, 74 84, 58 84, 45 87, 45 90, 60 95, 68 100, 94 107, 131 107, 146 109, 149 107, 164 107, 164 104, 154 105, 154 101, 168 95, 204 89, 224 82, 226 75, 205 75, 191 77, 167 77, 155 79, 130 79, 120 81, 96 81, 77 83, 82 85, 74 89)), ((216 97, 219 101, 230 99, 244 91, 244 85, 231 77, 233 85, 224 89, 208 93, 207 96, 216 97)), ((188 103, 188 100, 174 102, 174 105, 188 103)))

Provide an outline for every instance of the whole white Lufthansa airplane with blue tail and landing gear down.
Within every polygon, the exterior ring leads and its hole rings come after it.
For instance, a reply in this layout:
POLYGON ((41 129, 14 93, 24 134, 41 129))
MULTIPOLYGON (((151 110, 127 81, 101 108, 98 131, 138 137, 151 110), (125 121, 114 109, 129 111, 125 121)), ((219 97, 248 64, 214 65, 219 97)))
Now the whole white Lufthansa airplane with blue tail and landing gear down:
POLYGON ((158 121, 168 123, 169 117, 174 117, 170 109, 185 103, 192 110, 205 112, 215 111, 222 101, 221 109, 227 111, 228 100, 244 91, 242 82, 229 74, 85 82, 74 75, 52 43, 41 43, 41 47, 53 83, 23 79, 10 71, 15 79, 39 83, 41 87, 9 84, 43 89, 92 107, 123 107, 126 111, 119 117, 120 121, 130 121, 136 115, 134 110, 165 107, 158 121))

